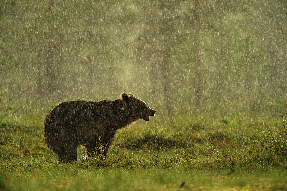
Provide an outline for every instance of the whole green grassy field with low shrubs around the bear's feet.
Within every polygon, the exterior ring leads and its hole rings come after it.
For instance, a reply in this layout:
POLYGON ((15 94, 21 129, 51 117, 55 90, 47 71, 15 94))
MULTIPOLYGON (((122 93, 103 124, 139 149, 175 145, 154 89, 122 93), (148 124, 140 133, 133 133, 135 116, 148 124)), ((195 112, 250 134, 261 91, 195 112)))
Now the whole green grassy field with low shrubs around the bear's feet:
POLYGON ((287 190, 281 118, 154 117, 118 131, 106 161, 72 164, 58 163, 36 119, 2 124, 0 190, 287 190))

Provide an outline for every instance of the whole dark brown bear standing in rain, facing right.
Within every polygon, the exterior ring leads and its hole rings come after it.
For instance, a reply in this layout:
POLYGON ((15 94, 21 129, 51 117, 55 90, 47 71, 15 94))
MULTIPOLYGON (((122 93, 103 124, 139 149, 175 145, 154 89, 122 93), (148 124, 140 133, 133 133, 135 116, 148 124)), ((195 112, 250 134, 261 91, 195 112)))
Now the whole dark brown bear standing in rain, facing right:
POLYGON ((155 110, 144 101, 126 93, 114 101, 66 101, 46 115, 44 142, 58 155, 60 163, 77 161, 80 144, 85 145, 88 155, 103 160, 117 129, 138 119, 149 121, 153 115, 155 110), (106 148, 99 149, 99 144, 106 148))

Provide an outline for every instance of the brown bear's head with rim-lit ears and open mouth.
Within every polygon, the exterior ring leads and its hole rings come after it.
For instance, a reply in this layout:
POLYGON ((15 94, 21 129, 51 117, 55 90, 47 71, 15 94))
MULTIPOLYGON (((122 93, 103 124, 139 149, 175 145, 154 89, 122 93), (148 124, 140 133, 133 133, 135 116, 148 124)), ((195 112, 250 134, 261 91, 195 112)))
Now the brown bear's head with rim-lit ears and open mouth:
POLYGON ((122 93, 120 98, 124 101, 125 105, 129 108, 129 111, 135 118, 149 121, 149 116, 155 115, 155 110, 149 108, 144 101, 136 98, 131 93, 122 93))

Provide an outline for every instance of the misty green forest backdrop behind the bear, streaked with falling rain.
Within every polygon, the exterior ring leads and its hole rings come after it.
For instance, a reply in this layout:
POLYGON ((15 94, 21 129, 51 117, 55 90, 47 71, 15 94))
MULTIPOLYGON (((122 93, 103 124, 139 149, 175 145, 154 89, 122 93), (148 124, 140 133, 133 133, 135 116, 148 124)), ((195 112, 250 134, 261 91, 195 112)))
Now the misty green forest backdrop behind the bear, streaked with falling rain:
POLYGON ((13 115, 131 92, 175 115, 280 117, 286 1, 0 3, 0 81, 13 115))

